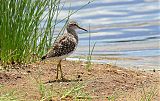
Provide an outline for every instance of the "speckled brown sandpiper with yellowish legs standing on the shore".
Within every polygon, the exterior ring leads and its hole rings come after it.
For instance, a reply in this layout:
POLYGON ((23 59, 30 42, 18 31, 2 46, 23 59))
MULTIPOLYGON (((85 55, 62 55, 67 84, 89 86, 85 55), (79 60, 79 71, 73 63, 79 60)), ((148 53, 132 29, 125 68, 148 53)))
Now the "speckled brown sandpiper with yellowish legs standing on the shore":
POLYGON ((62 73, 61 68, 61 61, 72 54, 78 44, 78 35, 75 31, 75 29, 82 29, 84 31, 87 31, 86 29, 80 27, 77 22, 75 21, 69 21, 66 30, 67 33, 64 33, 62 36, 57 38, 55 43, 53 44, 53 47, 42 57, 42 60, 47 58, 53 58, 55 60, 58 60, 57 65, 57 74, 56 74, 56 80, 58 80, 58 71, 60 70, 60 79, 63 81, 65 80, 62 73))

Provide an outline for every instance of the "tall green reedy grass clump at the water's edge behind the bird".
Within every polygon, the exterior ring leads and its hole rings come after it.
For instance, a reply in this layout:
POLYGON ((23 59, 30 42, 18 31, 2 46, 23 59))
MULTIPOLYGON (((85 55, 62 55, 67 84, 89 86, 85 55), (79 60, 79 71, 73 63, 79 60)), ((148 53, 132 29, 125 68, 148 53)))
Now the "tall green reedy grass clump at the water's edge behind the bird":
MULTIPOLYGON (((51 47, 56 26, 63 9, 61 0, 0 0, 0 60, 2 64, 29 63, 40 59, 51 47), (44 22, 45 21, 45 22, 44 22)), ((64 27, 59 31, 61 34, 64 27)))

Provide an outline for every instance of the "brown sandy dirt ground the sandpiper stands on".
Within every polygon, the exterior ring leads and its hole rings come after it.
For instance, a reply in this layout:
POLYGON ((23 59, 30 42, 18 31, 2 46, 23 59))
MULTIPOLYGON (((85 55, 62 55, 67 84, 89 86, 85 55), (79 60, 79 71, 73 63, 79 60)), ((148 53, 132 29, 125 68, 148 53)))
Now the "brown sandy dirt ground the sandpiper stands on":
MULTIPOLYGON (((145 95, 154 93, 152 101, 160 101, 159 71, 140 71, 124 69, 110 64, 92 64, 90 71, 86 63, 63 61, 62 70, 66 82, 55 82, 56 63, 37 62, 23 66, 12 66, 12 69, 0 69, 0 95, 16 90, 16 96, 23 101, 39 101, 42 94, 38 88, 42 83, 54 94, 46 101, 72 101, 75 94, 65 91, 83 85, 79 93, 89 96, 91 101, 139 101, 145 95), (63 99, 62 99, 63 96, 63 99)), ((43 89, 43 88, 42 88, 43 89)), ((152 96, 152 95, 151 95, 152 96)), ((78 96, 77 96, 78 99, 78 96)), ((87 97, 79 97, 88 101, 87 97)))

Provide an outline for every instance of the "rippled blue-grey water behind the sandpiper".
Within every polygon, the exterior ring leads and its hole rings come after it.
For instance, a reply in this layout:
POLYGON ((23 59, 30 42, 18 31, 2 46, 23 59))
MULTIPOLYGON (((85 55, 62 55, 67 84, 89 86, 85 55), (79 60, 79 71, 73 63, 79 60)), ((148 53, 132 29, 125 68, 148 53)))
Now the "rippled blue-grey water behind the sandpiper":
MULTIPOLYGON (((68 10, 77 10, 87 0, 67 0, 60 19, 68 10)), ((74 14, 84 28, 91 31, 93 55, 133 58, 109 60, 125 67, 160 69, 160 3, 158 0, 96 0, 74 14), (135 59, 135 60, 134 60, 135 59)), ((60 26, 61 27, 61 26, 60 26)), ((78 31, 79 46, 74 55, 88 54, 88 33, 78 31)))

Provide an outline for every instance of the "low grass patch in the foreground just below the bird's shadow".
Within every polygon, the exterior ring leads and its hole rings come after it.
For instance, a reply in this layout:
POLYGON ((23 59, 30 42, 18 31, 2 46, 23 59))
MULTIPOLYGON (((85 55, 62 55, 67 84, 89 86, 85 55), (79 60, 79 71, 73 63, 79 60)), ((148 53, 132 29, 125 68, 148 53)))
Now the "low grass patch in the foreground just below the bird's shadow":
POLYGON ((34 78, 36 81, 36 85, 38 88, 38 92, 41 96, 40 101, 49 101, 49 100, 91 100, 92 97, 84 91, 85 85, 83 83, 72 85, 72 87, 68 88, 55 88, 52 84, 44 84, 42 83, 40 77, 37 79, 34 78))

